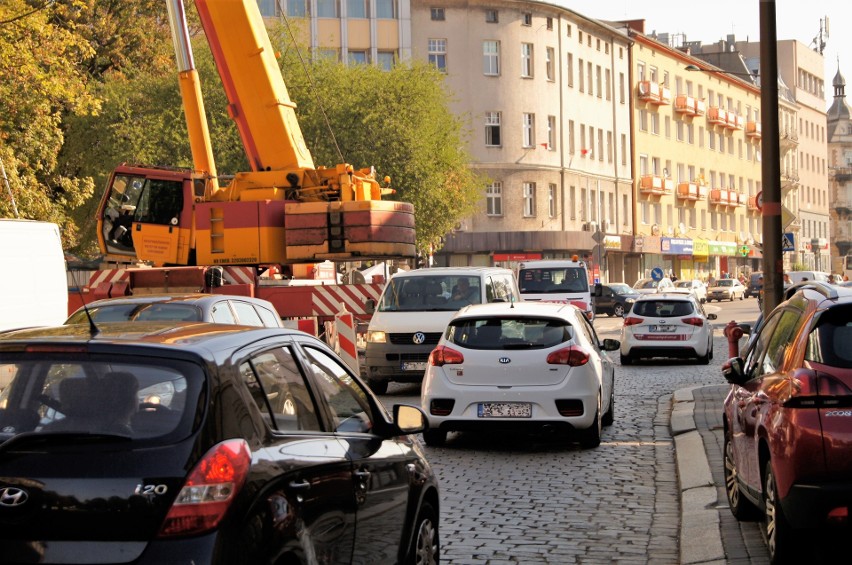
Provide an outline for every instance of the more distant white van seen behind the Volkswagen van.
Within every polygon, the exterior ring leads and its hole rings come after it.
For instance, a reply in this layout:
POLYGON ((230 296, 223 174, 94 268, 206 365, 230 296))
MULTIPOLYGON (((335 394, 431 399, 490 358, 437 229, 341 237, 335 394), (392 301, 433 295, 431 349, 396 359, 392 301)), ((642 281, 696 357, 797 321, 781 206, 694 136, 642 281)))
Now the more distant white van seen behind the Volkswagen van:
POLYGON ((585 261, 552 259, 526 261, 518 268, 522 300, 567 302, 594 319, 589 270, 585 261))

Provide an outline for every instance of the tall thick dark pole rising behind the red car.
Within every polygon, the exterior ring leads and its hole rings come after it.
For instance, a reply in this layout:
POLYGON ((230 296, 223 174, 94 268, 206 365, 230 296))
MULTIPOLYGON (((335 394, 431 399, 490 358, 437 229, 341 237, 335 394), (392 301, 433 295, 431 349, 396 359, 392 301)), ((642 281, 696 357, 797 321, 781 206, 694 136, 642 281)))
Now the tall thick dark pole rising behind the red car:
POLYGON ((763 115, 761 181, 763 183, 763 313, 766 316, 781 303, 784 295, 775 0, 760 0, 760 112, 763 115))

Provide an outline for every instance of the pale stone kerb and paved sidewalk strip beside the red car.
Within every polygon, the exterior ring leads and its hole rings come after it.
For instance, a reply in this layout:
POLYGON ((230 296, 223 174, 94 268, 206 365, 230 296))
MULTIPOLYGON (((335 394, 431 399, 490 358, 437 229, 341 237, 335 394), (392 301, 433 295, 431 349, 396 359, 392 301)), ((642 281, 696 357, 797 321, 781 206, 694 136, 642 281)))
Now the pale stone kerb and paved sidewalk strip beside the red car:
POLYGON ((728 385, 676 390, 671 432, 681 491, 680 563, 769 563, 757 522, 738 522, 725 495, 722 405, 728 385))

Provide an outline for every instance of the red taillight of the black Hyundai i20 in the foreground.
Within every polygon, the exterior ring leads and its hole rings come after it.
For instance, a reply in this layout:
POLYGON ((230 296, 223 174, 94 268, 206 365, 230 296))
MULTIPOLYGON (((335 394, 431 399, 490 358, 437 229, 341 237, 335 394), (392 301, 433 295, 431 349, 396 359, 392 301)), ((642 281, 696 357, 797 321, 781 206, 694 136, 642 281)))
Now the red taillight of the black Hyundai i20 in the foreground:
POLYGON ((159 537, 200 534, 218 526, 250 465, 251 452, 244 439, 229 439, 210 448, 186 479, 159 537))

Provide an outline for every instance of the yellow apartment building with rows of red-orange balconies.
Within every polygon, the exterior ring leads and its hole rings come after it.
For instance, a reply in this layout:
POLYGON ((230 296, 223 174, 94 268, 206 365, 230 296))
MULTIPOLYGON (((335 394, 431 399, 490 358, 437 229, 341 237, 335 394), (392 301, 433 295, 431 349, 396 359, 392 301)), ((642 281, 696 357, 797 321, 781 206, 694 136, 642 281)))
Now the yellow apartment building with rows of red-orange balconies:
MULTIPOLYGON (((668 36, 633 40, 636 250, 643 272, 707 279, 762 258, 760 89, 692 57, 668 36)), ((745 69, 744 69, 745 70, 745 69)))

